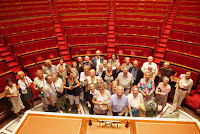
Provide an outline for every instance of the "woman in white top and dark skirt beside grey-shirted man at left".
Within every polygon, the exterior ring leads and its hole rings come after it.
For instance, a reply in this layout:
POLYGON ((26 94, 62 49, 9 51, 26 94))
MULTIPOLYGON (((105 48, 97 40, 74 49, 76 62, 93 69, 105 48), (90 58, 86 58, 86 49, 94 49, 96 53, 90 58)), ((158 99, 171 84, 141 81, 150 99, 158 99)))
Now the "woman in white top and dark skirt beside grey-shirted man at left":
POLYGON ((63 92, 63 81, 61 78, 58 78, 57 73, 52 73, 52 80, 53 80, 53 86, 57 93, 57 102, 56 107, 57 109, 64 110, 64 105, 66 104, 65 95, 63 92))

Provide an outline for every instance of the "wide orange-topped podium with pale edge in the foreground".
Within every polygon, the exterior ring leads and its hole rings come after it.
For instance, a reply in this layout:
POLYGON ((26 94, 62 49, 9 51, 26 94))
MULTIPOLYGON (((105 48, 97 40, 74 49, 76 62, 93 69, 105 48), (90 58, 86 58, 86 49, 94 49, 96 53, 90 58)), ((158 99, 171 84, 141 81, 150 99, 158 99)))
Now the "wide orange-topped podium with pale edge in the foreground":
POLYGON ((15 134, 200 134, 195 121, 28 111, 15 134))

